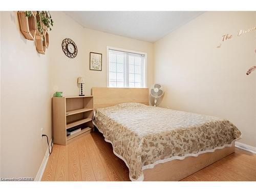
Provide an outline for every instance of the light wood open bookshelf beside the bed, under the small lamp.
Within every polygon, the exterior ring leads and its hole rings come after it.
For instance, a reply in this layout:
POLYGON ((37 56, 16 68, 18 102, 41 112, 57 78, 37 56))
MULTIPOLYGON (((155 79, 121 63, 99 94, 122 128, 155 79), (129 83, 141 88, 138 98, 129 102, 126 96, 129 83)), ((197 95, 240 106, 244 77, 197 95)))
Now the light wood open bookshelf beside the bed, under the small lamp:
POLYGON ((53 97, 53 142, 68 143, 93 131, 93 96, 53 97), (67 136, 67 129, 81 125, 81 131, 67 136))

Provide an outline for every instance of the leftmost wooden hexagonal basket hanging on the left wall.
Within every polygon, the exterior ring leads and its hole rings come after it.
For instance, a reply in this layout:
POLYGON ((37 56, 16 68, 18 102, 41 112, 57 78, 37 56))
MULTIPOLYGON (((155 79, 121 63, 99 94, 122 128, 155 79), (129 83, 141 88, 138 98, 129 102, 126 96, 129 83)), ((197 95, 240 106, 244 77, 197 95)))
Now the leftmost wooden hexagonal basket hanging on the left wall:
POLYGON ((18 20, 20 31, 28 40, 35 39, 36 27, 36 11, 32 11, 31 16, 26 16, 26 11, 18 11, 18 20))

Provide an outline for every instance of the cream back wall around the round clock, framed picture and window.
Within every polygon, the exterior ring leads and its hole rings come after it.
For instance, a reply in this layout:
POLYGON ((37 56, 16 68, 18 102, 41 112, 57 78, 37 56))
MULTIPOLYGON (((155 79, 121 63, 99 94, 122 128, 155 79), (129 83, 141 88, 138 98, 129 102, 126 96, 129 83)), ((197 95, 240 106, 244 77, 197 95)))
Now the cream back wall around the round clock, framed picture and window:
MULTIPOLYGON (((51 12, 54 28, 50 35, 51 93, 63 91, 64 95, 78 95, 77 77, 86 79, 85 93, 92 87, 106 87, 106 46, 147 53, 147 85, 153 83, 153 44, 81 27, 62 12, 51 12), (68 58, 61 49, 62 40, 75 41, 78 54, 68 58), (102 71, 89 69, 90 52, 102 53, 102 71)), ((84 89, 83 89, 84 90, 84 89)))

